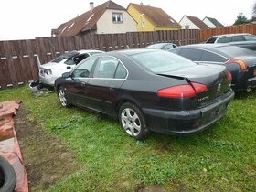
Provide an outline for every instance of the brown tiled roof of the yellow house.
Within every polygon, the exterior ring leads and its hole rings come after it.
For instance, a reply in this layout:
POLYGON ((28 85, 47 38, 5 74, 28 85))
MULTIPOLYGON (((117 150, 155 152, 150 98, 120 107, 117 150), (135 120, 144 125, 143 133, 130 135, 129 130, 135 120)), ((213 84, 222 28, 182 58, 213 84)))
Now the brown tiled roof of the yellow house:
POLYGON ((129 4, 128 7, 130 5, 132 5, 140 14, 144 14, 155 27, 181 27, 174 18, 166 14, 161 8, 133 3, 129 4))

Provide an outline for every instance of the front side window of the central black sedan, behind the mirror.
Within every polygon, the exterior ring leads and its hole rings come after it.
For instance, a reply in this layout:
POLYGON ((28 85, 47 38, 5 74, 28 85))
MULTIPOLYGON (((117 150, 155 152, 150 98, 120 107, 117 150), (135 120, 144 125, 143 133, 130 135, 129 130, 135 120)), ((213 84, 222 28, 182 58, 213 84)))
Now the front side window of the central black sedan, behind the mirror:
POLYGON ((91 74, 92 66, 97 58, 86 59, 80 63, 80 65, 72 71, 73 78, 89 78, 91 74))

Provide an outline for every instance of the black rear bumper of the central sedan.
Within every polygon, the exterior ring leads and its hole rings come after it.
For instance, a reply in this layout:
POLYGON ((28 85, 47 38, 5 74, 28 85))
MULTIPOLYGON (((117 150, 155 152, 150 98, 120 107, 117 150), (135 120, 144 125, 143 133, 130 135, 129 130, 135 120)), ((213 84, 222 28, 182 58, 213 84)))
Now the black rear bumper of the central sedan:
POLYGON ((151 131, 171 134, 197 133, 218 122, 227 112, 233 98, 234 92, 229 91, 214 103, 196 110, 165 111, 144 108, 143 112, 151 131))

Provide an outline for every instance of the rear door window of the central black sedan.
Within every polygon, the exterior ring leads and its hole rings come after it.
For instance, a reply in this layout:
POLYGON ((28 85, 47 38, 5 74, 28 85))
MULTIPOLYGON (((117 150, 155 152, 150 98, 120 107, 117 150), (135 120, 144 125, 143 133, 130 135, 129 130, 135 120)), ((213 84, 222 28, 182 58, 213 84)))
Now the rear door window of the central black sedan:
POLYGON ((119 61, 110 57, 98 60, 94 69, 93 78, 114 78, 119 61))

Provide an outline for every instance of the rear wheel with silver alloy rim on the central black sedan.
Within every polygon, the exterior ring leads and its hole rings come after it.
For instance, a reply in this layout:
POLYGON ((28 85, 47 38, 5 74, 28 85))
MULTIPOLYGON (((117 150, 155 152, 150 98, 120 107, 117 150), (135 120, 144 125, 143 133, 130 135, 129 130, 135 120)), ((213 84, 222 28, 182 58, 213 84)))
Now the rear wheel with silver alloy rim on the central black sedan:
POLYGON ((119 110, 119 122, 123 130, 136 140, 143 141, 150 133, 146 127, 143 113, 133 103, 123 103, 119 110))

